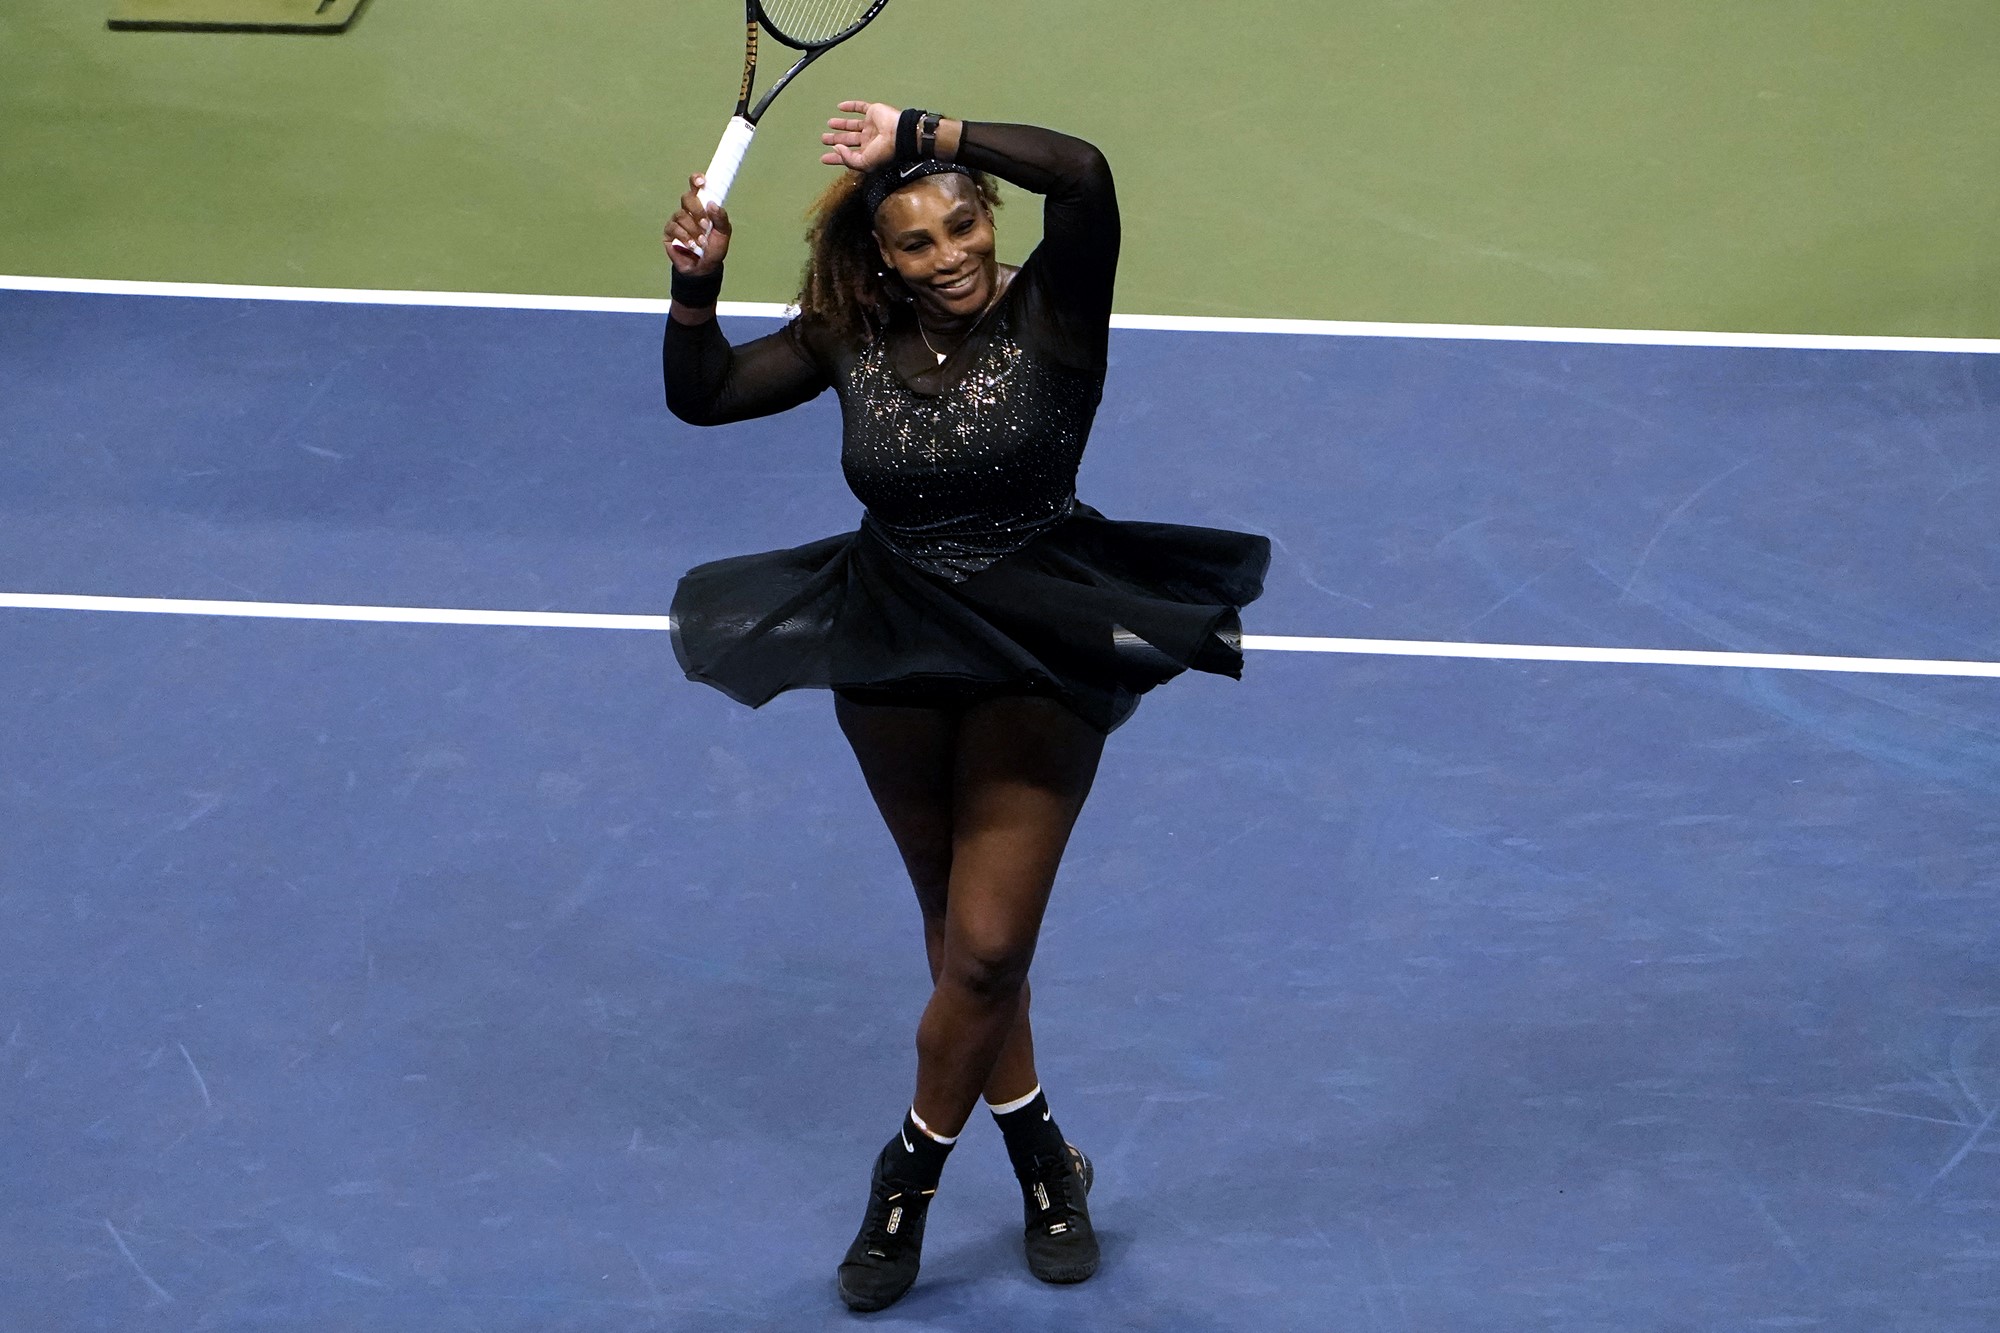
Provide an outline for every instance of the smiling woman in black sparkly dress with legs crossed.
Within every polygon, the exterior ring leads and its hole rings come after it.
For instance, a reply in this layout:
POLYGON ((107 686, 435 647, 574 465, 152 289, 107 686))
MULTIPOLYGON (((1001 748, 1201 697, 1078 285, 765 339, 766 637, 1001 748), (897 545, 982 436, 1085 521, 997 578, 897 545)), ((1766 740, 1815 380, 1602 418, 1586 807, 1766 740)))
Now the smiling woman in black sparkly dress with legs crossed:
POLYGON ((916 887, 932 995, 916 1097, 876 1157, 842 1301, 916 1281, 944 1161, 984 1093, 1026 1211, 1028 1267, 1098 1267, 1090 1161, 1034 1069, 1028 963, 1104 735, 1192 666, 1242 675, 1260 536, 1114 522, 1076 500, 1104 388, 1118 202, 1090 144, 842 102, 798 318, 716 328, 730 220, 690 190, 666 228, 666 402, 714 426, 840 394, 858 532, 688 572, 674 652, 750 707, 834 691, 834 715, 916 887), (994 258, 990 176, 1046 196, 1026 264, 994 258))

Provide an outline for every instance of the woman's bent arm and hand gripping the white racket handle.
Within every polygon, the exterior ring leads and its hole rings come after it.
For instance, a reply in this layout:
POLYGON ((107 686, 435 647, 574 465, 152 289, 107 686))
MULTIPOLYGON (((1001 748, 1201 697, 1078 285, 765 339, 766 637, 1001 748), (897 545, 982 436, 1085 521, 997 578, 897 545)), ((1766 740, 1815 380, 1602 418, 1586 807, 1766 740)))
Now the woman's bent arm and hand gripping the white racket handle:
POLYGON ((674 262, 674 302, 660 344, 666 406, 694 426, 794 408, 828 386, 826 374, 794 324, 742 346, 730 346, 722 336, 716 300, 730 248, 730 218, 720 206, 700 202, 700 176, 688 178, 680 210, 666 224, 666 252, 674 262))

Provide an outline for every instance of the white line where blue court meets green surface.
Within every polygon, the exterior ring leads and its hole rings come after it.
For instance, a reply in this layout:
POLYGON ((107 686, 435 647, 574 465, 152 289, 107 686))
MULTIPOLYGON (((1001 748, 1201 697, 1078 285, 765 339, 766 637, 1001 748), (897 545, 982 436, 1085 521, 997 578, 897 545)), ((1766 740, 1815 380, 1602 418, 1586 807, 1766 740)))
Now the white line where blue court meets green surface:
MULTIPOLYGON (((98 296, 212 296, 224 300, 318 300, 362 306, 472 306, 480 310, 596 310, 664 314, 666 300, 638 296, 532 296, 516 292, 406 292, 350 286, 240 286, 234 282, 126 282, 116 278, 36 278, 0 274, 0 290, 86 292, 98 296)), ((730 316, 778 318, 788 306, 724 300, 730 316)), ((1472 342, 1600 342, 1612 346, 1750 346, 1832 352, 2000 354, 2000 338, 1870 338, 1850 334, 1756 334, 1674 328, 1542 328, 1536 324, 1396 324, 1380 320, 1264 320, 1206 314, 1114 314, 1112 328, 1166 332, 1306 334, 1338 338, 1458 338, 1472 342)))

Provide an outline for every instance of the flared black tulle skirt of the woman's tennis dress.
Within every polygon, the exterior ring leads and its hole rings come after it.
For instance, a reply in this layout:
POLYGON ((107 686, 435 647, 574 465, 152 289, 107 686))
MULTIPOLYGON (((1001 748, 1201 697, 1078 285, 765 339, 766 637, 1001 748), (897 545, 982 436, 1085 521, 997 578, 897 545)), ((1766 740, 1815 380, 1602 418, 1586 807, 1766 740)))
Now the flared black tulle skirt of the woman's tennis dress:
POLYGON ((1270 542, 1118 522, 1086 504, 952 582, 856 532, 700 564, 674 592, 690 681, 752 709, 794 689, 944 705, 1048 695, 1098 731, 1182 671, 1242 677, 1238 610, 1264 590, 1270 542))

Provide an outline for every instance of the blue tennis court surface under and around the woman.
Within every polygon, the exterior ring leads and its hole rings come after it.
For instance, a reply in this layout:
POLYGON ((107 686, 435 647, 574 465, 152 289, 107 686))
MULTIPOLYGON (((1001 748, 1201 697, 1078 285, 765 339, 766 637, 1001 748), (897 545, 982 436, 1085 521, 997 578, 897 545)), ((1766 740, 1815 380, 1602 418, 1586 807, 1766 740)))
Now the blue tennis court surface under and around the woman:
MULTIPOLYGON (((1978 350, 1122 330, 1080 492, 1270 534, 1252 634, 1978 666, 1996 410, 1978 350)), ((0 440, 6 594, 658 616, 858 518, 830 400, 682 426, 642 312, 8 290, 0 440)), ((928 987, 824 697, 12 606, 0 735, 0 1323, 848 1327, 928 987)), ((1984 1333, 1996 797, 1970 675, 1176 681, 1034 973, 1104 1271, 1020 1271, 974 1117, 872 1321, 1984 1333)))

